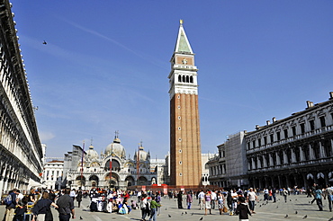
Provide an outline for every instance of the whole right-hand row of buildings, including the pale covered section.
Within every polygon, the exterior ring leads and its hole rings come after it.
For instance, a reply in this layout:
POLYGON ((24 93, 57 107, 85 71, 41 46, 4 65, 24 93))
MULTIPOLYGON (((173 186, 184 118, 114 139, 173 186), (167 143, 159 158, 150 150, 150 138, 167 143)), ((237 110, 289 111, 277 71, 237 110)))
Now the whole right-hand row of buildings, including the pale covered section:
POLYGON ((308 188, 333 181, 333 93, 329 95, 327 102, 308 101, 305 110, 288 118, 273 118, 255 131, 244 131, 234 142, 237 150, 229 139, 218 146, 219 155, 208 163, 211 184, 308 188), (240 153, 238 159, 235 153, 240 153), (235 165, 238 172, 233 173, 235 165))

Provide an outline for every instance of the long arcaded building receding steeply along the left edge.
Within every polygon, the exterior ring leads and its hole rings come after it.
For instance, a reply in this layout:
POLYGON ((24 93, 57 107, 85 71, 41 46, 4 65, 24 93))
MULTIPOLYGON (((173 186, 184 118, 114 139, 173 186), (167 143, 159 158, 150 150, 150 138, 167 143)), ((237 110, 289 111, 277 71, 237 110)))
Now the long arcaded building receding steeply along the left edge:
POLYGON ((0 190, 4 191, 27 190, 40 183, 44 156, 11 7, 0 1, 0 190))

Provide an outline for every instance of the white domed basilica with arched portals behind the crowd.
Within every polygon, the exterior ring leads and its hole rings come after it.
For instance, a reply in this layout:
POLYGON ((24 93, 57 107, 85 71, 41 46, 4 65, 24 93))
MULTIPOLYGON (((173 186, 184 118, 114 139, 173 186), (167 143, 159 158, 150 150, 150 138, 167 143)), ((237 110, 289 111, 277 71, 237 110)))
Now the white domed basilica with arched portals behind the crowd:
POLYGON ((63 186, 74 189, 116 188, 124 190, 133 185, 157 184, 157 168, 151 166, 150 154, 142 143, 133 159, 126 158, 126 150, 118 136, 100 155, 89 146, 73 146, 64 158, 63 186))

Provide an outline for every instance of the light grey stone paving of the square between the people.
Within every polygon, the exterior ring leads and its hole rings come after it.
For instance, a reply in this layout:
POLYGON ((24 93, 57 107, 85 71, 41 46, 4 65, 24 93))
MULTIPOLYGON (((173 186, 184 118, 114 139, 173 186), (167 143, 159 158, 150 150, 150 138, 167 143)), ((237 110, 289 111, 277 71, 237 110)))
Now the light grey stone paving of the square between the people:
MULTIPOLYGON (((136 199, 132 197, 131 199, 136 199)), ((328 199, 323 199, 324 211, 319 211, 316 202, 311 204, 311 198, 307 198, 306 195, 290 195, 285 203, 282 196, 277 196, 276 203, 263 201, 263 195, 259 196, 261 199, 256 205, 256 214, 249 217, 250 221, 269 221, 269 220, 306 220, 306 221, 333 221, 333 212, 329 212, 328 199), (297 214, 296 214, 297 211, 297 214), (288 217, 286 217, 288 215, 288 217), (307 216, 306 218, 304 218, 307 216)), ((229 216, 229 214, 219 215, 219 210, 214 209, 211 211, 212 215, 204 216, 204 210, 200 210, 198 206, 198 200, 194 199, 193 207, 191 209, 185 209, 185 199, 183 201, 184 209, 177 208, 176 199, 162 198, 161 200, 161 212, 157 217, 157 221, 209 221, 209 220, 238 220, 238 216, 229 216)), ((83 199, 81 208, 77 208, 76 205, 76 219, 74 220, 86 220, 86 221, 103 221, 103 220, 137 220, 141 218, 140 210, 132 210, 130 214, 120 215, 115 213, 103 213, 103 212, 90 212, 89 199, 83 199), (82 217, 82 219, 80 219, 82 217)), ((4 206, 0 206, 0 213, 4 215, 4 206)), ((58 212, 52 208, 54 220, 58 220, 58 212)), ((148 218, 146 218, 148 220, 148 218)))

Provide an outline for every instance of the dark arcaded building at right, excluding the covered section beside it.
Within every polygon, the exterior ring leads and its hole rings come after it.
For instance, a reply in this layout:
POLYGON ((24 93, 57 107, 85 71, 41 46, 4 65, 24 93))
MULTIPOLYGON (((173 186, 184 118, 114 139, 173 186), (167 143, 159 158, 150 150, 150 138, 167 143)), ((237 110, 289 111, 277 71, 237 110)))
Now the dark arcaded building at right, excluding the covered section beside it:
POLYGON ((251 186, 321 186, 333 179, 333 93, 327 102, 266 122, 247 134, 247 175, 251 186))

